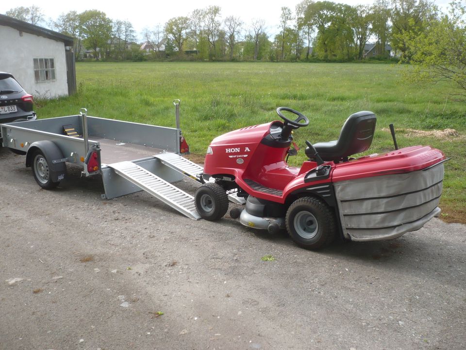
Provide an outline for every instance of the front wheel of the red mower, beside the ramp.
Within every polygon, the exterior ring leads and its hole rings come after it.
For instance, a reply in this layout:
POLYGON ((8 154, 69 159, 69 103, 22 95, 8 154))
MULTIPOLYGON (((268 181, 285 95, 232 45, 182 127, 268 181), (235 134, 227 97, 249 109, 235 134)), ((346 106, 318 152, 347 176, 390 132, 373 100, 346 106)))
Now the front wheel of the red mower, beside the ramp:
POLYGON ((203 219, 215 221, 223 217, 228 210, 228 197, 218 184, 208 182, 196 191, 196 209, 203 219))

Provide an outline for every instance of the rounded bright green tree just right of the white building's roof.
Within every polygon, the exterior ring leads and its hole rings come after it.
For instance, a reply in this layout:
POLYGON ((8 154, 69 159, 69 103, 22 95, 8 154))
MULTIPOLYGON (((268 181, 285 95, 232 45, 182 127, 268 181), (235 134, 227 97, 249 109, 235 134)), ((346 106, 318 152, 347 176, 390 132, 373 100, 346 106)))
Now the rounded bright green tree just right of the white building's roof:
POLYGON ((79 15, 83 44, 94 51, 95 57, 99 51, 107 52, 108 42, 112 37, 112 21, 104 12, 87 10, 79 15))

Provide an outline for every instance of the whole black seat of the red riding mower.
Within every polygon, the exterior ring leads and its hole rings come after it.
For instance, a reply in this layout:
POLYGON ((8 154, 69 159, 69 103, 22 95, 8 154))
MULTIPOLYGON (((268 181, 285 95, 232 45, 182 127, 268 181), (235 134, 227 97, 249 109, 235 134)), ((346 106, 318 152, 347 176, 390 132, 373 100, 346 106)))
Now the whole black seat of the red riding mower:
MULTIPOLYGON (((374 137, 375 114, 361 111, 351 114, 341 128, 338 140, 318 142, 313 146, 324 161, 346 161, 348 157, 366 151, 374 137)), ((314 158, 314 153, 306 147, 306 156, 314 158)))

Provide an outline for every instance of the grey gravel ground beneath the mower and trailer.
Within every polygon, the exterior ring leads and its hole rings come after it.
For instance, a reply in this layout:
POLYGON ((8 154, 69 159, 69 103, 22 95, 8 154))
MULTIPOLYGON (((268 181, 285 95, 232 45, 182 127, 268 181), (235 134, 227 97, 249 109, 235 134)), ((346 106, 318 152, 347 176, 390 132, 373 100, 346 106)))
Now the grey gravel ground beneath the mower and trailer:
POLYGON ((463 225, 312 252, 24 161, 0 149, 2 350, 466 348, 463 225))

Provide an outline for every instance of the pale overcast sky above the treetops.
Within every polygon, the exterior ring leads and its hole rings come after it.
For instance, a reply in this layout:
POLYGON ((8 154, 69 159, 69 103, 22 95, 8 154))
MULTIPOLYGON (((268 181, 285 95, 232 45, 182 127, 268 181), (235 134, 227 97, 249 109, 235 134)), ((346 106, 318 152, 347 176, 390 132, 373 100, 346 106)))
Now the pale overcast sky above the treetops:
MULTIPOLYGON (((441 5, 448 3, 450 0, 436 0, 435 3, 441 5)), ((5 14, 12 7, 30 7, 39 6, 47 19, 56 19, 60 14, 68 11, 83 12, 85 10, 100 10, 105 12, 111 19, 129 20, 138 36, 142 30, 147 27, 150 29, 160 23, 162 26, 166 21, 173 17, 189 16, 195 9, 202 9, 210 5, 220 6, 221 16, 240 17, 246 26, 253 19, 264 19, 266 21, 267 33, 275 34, 278 32, 280 21, 281 7, 287 6, 293 12, 296 5, 301 0, 175 0, 171 1, 150 1, 150 0, 132 0, 124 1, 127 5, 122 5, 117 1, 109 0, 45 0, 38 2, 30 0, 0 1, 0 13, 5 14)), ((347 3, 350 5, 371 4, 373 0, 340 0, 334 2, 347 3)))

